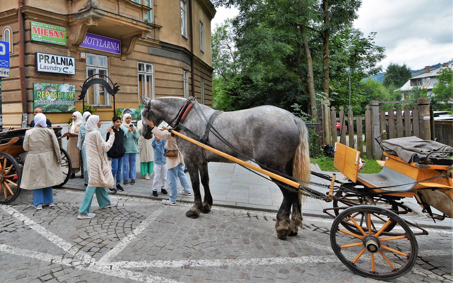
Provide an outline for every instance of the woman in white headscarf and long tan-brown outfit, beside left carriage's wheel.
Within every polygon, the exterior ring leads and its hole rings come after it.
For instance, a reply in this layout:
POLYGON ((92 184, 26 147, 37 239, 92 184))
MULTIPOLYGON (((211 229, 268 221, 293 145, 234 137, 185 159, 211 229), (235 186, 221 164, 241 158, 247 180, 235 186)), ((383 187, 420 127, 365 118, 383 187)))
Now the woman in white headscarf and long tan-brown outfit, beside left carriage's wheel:
MULTIPOLYGON (((72 113, 72 123, 69 124, 69 134, 67 135, 67 153, 71 158, 72 172, 71 179, 76 177, 76 173, 83 170, 82 155, 77 148, 77 141, 79 136, 79 128, 82 125, 82 114, 79 111, 72 113)), ((82 172, 83 174, 83 172, 82 172)))

